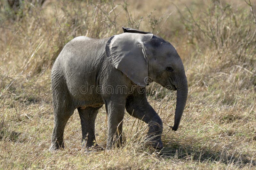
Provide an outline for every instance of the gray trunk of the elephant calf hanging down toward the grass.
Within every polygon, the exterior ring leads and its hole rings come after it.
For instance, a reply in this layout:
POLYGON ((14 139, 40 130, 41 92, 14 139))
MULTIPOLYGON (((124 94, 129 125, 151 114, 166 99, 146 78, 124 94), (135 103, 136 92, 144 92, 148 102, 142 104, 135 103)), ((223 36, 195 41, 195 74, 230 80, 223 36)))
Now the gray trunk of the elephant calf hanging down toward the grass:
POLYGON ((177 87, 177 102, 176 102, 176 109, 175 109, 175 117, 174 117, 174 126, 172 127, 173 131, 177 131, 182 113, 184 111, 186 101, 188 97, 188 82, 185 76, 185 81, 180 83, 177 87))

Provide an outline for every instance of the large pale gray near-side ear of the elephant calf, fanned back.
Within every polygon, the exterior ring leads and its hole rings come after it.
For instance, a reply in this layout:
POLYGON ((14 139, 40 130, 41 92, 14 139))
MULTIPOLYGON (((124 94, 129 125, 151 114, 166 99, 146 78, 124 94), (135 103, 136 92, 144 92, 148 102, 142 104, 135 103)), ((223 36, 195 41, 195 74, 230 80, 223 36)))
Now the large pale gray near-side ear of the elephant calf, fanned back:
POLYGON ((148 36, 125 32, 112 36, 106 45, 106 55, 112 66, 139 86, 148 84, 144 80, 148 77, 148 58, 143 43, 148 36))

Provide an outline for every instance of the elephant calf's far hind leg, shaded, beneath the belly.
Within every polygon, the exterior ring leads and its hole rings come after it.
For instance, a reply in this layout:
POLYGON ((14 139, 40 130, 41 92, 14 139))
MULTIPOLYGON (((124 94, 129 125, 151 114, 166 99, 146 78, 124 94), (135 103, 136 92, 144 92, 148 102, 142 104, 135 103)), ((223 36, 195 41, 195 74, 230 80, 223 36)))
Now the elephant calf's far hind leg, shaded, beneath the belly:
POLYGON ((95 119, 99 109, 102 107, 86 107, 84 109, 77 108, 82 127, 82 147, 87 148, 94 145, 95 138, 95 119))

